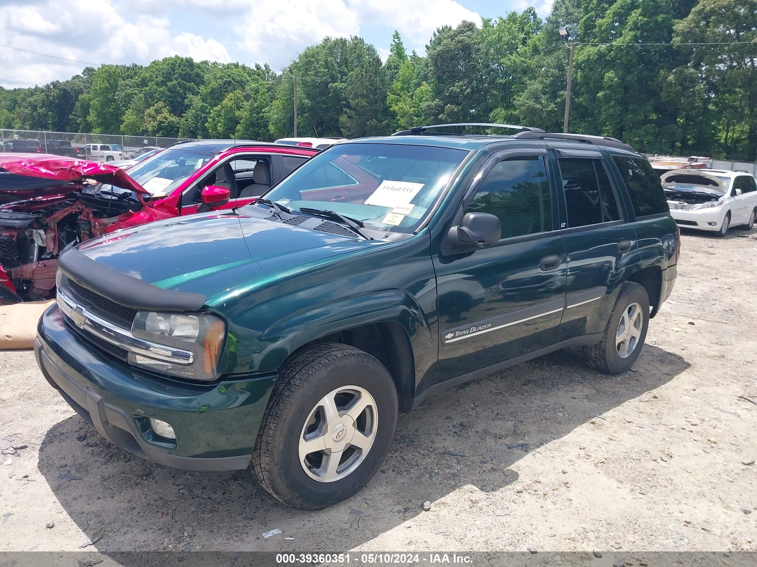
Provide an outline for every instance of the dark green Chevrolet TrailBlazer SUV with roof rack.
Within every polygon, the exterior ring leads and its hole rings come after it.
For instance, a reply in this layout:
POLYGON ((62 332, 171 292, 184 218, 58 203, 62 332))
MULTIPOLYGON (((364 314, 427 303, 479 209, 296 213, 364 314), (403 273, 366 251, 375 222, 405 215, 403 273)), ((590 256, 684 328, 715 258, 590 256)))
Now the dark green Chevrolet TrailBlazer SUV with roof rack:
POLYGON ((70 247, 42 373, 126 451, 250 466, 315 510, 441 389, 575 345, 628 370, 679 253, 650 163, 615 138, 471 126, 335 144, 255 203, 70 247))

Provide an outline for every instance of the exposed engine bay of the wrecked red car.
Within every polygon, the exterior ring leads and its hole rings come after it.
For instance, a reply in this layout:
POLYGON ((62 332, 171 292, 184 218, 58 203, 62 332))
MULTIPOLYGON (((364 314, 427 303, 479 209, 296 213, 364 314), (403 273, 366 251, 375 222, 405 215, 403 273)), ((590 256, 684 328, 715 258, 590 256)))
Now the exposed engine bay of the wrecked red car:
MULTIPOLYGON (((71 243, 114 230, 122 215, 142 203, 131 191, 102 191, 100 184, 51 198, 17 201, 0 209, 0 283, 8 279, 23 301, 55 296, 58 254, 71 243)), ((8 293, 8 292, 5 292, 8 293)), ((13 299, 0 297, 3 299, 13 299)), ((16 299, 17 300, 17 299, 16 299)))

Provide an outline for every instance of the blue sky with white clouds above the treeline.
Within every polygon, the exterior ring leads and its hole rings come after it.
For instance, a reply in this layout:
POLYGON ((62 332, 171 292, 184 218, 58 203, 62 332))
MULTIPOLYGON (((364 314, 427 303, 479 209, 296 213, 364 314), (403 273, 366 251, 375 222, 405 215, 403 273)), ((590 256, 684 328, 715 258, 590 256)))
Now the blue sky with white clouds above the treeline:
MULTIPOLYGON (((268 63, 281 70, 324 36, 360 35, 383 57, 398 29, 408 51, 431 32, 552 0, 25 0, 0 5, 0 44, 91 63, 195 60, 268 63)), ((43 85, 84 64, 0 48, 0 85, 43 85)))

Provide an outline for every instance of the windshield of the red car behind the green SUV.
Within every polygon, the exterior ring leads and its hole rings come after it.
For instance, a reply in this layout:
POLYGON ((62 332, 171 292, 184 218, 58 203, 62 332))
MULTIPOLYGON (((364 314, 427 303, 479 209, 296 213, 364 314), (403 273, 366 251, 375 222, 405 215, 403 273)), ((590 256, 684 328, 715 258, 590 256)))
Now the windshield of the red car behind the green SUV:
POLYGON ((164 197, 186 178, 213 159, 215 154, 182 150, 163 150, 129 168, 129 177, 153 197, 164 197))

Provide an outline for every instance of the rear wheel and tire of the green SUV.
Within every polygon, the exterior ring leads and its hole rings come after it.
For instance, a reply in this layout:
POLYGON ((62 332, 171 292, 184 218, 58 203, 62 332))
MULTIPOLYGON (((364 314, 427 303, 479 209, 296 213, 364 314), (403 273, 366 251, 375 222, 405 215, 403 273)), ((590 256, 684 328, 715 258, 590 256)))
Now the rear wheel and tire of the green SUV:
POLYGON ((650 299, 646 290, 638 283, 627 281, 615 299, 602 340, 583 347, 586 363, 605 374, 627 371, 639 358, 649 324, 650 299))

